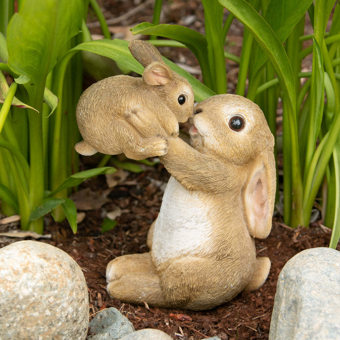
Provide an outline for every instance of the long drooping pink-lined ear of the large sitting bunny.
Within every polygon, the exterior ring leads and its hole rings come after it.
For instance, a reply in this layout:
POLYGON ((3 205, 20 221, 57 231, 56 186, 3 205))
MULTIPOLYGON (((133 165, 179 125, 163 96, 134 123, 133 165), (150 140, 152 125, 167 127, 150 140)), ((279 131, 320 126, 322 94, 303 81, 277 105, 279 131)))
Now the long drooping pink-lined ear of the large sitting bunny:
POLYGON ((263 150, 243 192, 243 206, 249 234, 265 238, 272 227, 276 191, 275 159, 272 151, 263 150))

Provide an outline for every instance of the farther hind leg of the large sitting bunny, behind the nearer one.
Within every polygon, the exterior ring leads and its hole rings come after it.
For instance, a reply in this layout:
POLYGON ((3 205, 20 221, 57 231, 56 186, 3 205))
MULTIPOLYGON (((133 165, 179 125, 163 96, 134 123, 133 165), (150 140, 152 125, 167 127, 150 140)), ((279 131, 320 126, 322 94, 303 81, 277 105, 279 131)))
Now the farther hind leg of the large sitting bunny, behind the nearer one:
POLYGON ((106 282, 110 283, 129 273, 154 274, 150 253, 116 257, 106 267, 106 282))

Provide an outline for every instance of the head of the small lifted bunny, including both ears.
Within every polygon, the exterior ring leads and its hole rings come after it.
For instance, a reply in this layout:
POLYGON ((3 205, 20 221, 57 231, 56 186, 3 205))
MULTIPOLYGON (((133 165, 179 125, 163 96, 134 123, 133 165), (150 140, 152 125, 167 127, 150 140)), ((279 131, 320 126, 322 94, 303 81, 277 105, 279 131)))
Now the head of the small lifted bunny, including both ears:
POLYGON ((189 82, 165 64, 158 50, 144 40, 129 44, 133 57, 145 67, 142 78, 162 103, 170 108, 179 122, 192 115, 194 94, 189 82))

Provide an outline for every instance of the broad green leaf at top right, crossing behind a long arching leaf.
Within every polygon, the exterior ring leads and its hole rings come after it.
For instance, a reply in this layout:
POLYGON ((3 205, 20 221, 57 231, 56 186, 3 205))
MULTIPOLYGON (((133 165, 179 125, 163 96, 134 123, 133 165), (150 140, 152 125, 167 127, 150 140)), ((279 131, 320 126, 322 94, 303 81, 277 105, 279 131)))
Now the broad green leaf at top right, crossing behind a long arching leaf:
MULTIPOLYGON (((291 0, 271 0, 268 4, 264 19, 272 28, 275 35, 283 43, 295 25, 305 15, 312 0, 291 1, 291 0)), ((265 65, 268 60, 262 49, 256 51, 256 61, 251 74, 250 82, 256 73, 265 65)))

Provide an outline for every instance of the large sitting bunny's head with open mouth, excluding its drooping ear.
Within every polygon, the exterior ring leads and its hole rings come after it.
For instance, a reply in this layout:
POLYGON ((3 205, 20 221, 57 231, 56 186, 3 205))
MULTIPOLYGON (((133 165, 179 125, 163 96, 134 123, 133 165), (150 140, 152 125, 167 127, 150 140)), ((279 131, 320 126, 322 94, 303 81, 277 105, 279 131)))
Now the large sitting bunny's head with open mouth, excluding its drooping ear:
POLYGON ((197 104, 190 121, 193 148, 235 165, 248 163, 262 150, 274 147, 263 112, 241 96, 210 97, 197 104))

